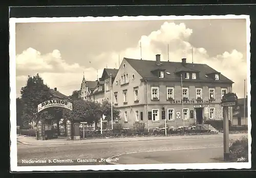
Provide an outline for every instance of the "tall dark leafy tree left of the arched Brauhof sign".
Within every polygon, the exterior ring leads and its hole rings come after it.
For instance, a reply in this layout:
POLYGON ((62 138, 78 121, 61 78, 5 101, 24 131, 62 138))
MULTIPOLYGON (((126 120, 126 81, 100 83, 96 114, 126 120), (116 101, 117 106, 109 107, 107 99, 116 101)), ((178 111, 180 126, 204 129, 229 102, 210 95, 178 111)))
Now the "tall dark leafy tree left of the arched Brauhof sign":
POLYGON ((51 92, 38 73, 33 77, 28 76, 27 85, 21 89, 20 93, 24 102, 23 121, 28 123, 38 121, 38 119, 44 119, 45 112, 40 113, 36 117, 37 105, 50 99, 51 92))

